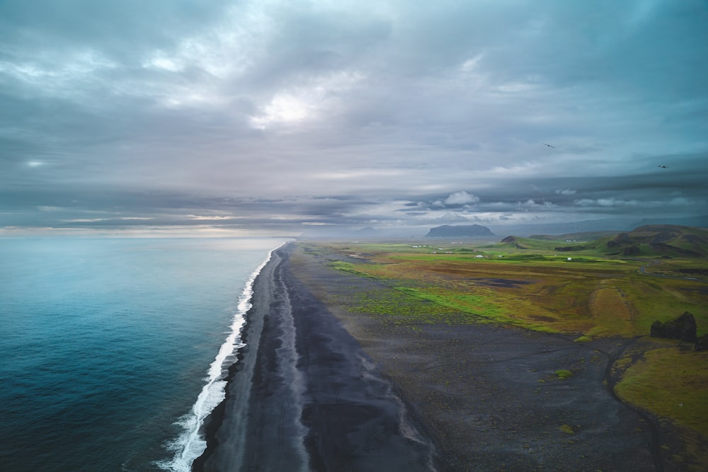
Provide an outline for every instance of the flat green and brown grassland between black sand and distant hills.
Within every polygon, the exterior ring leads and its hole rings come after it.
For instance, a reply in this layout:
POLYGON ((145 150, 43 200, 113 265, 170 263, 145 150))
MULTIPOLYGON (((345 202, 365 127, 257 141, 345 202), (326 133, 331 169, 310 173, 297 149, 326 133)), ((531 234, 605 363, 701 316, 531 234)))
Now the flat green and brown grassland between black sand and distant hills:
POLYGON ((699 336, 708 333, 705 258, 569 256, 543 241, 531 248, 429 240, 301 245, 328 253, 338 270, 387 282, 389 289, 348 304, 396 325, 501 323, 578 342, 634 339, 613 366, 617 396, 708 439, 708 352, 649 337, 651 323, 684 311, 695 316, 699 336))

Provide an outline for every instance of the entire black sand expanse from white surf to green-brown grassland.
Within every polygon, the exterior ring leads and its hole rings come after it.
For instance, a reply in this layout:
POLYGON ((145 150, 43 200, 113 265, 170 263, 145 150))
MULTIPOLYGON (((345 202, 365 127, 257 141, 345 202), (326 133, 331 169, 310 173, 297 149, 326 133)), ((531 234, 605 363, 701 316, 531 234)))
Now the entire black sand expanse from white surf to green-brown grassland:
POLYGON ((658 422, 612 393, 632 340, 389 326, 337 301, 381 282, 327 262, 291 243, 258 276, 195 470, 682 470, 658 422))

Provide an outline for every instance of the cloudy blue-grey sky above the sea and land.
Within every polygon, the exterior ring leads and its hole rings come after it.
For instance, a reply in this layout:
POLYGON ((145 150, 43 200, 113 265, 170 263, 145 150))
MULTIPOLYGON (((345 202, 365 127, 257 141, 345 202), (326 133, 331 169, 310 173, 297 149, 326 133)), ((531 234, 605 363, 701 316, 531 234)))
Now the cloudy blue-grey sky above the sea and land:
POLYGON ((0 0, 0 235, 634 221, 707 182, 705 0, 0 0))

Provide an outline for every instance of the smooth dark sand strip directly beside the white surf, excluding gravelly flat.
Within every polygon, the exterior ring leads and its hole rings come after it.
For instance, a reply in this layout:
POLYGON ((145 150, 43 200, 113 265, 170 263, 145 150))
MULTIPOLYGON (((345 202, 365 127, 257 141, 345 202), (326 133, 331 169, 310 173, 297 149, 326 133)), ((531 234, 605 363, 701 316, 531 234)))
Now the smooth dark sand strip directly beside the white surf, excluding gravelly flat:
POLYGON ((292 243, 253 284, 227 398, 194 471, 433 471, 433 443, 394 385, 295 277, 292 243))

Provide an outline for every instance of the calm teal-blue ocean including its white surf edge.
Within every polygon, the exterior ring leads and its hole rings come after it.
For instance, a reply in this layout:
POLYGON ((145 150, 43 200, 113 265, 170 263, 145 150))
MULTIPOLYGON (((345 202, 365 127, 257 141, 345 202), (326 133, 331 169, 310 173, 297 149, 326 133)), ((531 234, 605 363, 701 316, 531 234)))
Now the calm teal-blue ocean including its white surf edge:
POLYGON ((0 469, 188 471, 277 238, 1 238, 0 469))

